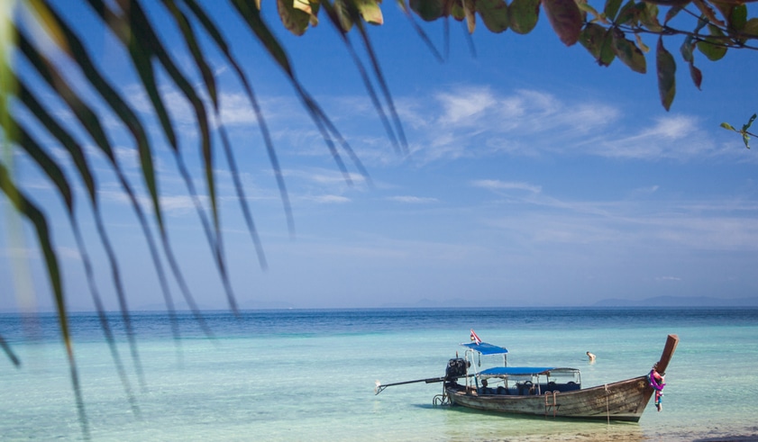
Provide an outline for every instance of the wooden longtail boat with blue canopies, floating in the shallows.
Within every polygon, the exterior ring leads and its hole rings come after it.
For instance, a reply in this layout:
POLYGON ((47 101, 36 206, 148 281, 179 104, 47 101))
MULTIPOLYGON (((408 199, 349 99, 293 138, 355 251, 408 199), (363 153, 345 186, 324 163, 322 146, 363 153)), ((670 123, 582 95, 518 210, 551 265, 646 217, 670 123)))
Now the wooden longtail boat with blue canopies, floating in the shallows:
POLYGON ((443 383, 443 393, 434 396, 434 404, 451 404, 475 410, 513 415, 554 418, 607 419, 637 422, 653 393, 661 410, 660 393, 663 375, 679 343, 669 335, 661 359, 650 373, 619 381, 582 388, 580 370, 561 366, 507 366, 507 349, 481 342, 471 330, 473 342, 462 358, 448 361, 441 377, 388 383, 377 381, 375 393, 391 385, 404 383, 443 383), (481 371, 474 364, 481 356, 503 356, 503 365, 481 371))

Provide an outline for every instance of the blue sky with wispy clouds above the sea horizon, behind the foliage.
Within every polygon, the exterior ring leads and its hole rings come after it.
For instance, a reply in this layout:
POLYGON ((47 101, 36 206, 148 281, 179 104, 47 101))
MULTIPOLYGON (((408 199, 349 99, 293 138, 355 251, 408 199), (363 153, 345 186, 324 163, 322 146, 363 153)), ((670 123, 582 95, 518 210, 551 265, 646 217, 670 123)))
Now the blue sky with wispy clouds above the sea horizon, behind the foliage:
MULTIPOLYGON (((151 131, 169 236, 192 294, 203 308, 226 308, 196 212, 128 59, 93 24, 86 8, 66 5, 61 13, 76 17, 99 65, 151 131)), ((461 23, 451 22, 448 58, 439 63, 397 6, 385 4, 385 24, 370 28, 370 36, 403 121, 411 152, 406 158, 388 140, 361 77, 325 18, 296 38, 282 29, 273 3, 263 2, 263 9, 290 50, 297 77, 361 158, 371 185, 349 162, 353 185, 345 182, 268 54, 224 7, 215 8, 215 20, 224 23, 259 95, 296 225, 293 237, 251 106, 232 70, 211 50, 222 119, 269 262, 268 270, 260 269, 216 137, 224 252, 242 308, 461 300, 471 306, 573 306, 607 298, 758 293, 758 157, 735 133, 719 128, 721 122, 742 125, 758 112, 755 51, 730 52, 716 63, 696 54, 704 76, 698 90, 680 59, 681 39, 665 41, 678 63, 677 95, 666 112, 658 98, 653 55, 647 57, 646 75, 619 60, 598 67, 580 45, 563 46, 542 16, 528 35, 492 34, 479 23, 472 35, 475 55, 461 23)), ((151 20, 164 23, 161 32, 176 41, 176 30, 160 8, 151 10, 151 20)), ((422 25, 443 50, 443 23, 422 25)), ((646 43, 654 48, 654 40, 646 43)), ((199 85, 187 51, 178 42, 172 48, 173 58, 199 85)), ((59 63, 80 86, 76 69, 65 60, 59 63)), ((17 66, 19 72, 29 71, 23 60, 17 66)), ((39 84, 32 74, 29 81, 39 84)), ((205 191, 193 114, 175 87, 162 85, 183 157, 205 191)), ((71 121, 49 91, 37 90, 61 122, 71 121)), ((96 99, 92 103, 97 105, 96 99)), ((23 108, 17 109, 23 116, 23 108)), ((132 141, 113 115, 104 111, 102 118, 123 169, 142 191, 132 141)), ((38 133, 70 166, 62 149, 38 133)), ((81 140, 94 149, 86 137, 81 140)), ((132 208, 105 161, 92 158, 130 307, 161 308, 160 285, 132 208)), ((55 220, 53 240, 64 267, 68 305, 91 309, 81 257, 61 204, 23 155, 14 159, 24 191, 55 220)), ((91 209, 80 181, 71 181, 78 188, 78 218, 96 263, 98 288, 108 307, 115 308, 91 209)), ((11 239, 15 221, 5 199, 2 205, 0 310, 47 308, 50 290, 37 244, 28 226, 22 241, 11 239)), ((143 206, 150 211, 147 200, 143 206)), ((171 292, 180 296, 174 282, 171 292)))

